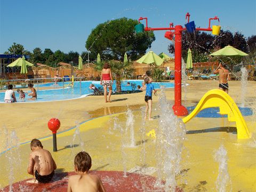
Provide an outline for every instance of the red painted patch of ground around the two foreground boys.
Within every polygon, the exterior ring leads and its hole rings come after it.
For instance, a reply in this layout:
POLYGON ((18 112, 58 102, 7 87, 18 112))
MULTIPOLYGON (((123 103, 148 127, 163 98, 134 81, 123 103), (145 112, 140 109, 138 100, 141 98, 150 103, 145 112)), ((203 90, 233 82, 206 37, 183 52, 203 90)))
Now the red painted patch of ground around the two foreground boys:
MULTIPOLYGON (((127 177, 123 177, 124 173, 119 171, 92 171, 91 174, 97 174, 102 180, 106 191, 164 191, 161 188, 155 188, 156 178, 149 175, 141 175, 137 173, 127 173, 127 177)), ((57 173, 54 175, 53 181, 50 183, 26 183, 27 180, 19 181, 12 185, 12 191, 66 191, 68 186, 68 176, 75 172, 57 173)), ((3 191, 9 191, 9 186, 3 191)), ((177 192, 182 192, 176 188, 177 192)))

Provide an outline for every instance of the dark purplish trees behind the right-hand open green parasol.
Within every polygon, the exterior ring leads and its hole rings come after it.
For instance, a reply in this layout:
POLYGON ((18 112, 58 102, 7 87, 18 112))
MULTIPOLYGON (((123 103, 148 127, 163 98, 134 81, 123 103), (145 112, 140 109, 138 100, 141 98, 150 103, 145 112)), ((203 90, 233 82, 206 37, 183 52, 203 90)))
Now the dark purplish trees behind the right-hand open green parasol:
MULTIPOLYGON (((211 52, 227 45, 234 46, 236 49, 248 53, 249 49, 251 52, 255 50, 253 48, 255 42, 256 38, 253 36, 249 37, 246 42, 246 38, 243 34, 236 32, 233 35, 229 30, 221 30, 218 36, 213 36, 210 33, 201 31, 195 31, 195 33, 184 31, 182 34, 182 57, 185 60, 187 59, 187 51, 190 48, 192 50, 193 62, 209 61, 209 54, 211 52)), ((175 49, 172 43, 168 46, 168 50, 170 53, 174 54, 175 49)), ((238 57, 236 61, 240 62, 241 59, 242 58, 238 57)))

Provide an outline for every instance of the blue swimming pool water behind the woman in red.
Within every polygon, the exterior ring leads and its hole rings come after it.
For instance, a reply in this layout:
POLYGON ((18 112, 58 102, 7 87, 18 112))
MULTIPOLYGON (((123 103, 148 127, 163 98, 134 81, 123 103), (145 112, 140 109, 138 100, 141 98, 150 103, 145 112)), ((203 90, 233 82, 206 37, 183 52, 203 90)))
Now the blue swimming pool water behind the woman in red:
MULTIPOLYGON (((142 86, 143 80, 126 80, 122 81, 122 91, 132 91, 132 86, 127 86, 127 82, 135 84, 137 88, 138 85, 142 86)), ((30 101, 28 100, 28 95, 26 94, 25 102, 45 102, 45 101, 59 101, 59 100, 68 100, 68 99, 77 99, 86 97, 89 94, 92 94, 93 91, 89 89, 90 84, 94 84, 96 87, 100 87, 100 81, 82 81, 74 82, 74 87, 69 86, 70 82, 58 82, 58 85, 54 83, 45 83, 34 85, 34 88, 37 90, 37 100, 30 101), (51 89, 52 87, 52 89, 51 89), (45 88, 45 89, 44 89, 45 88), (49 89, 50 88, 50 89, 49 89)), ((174 83, 170 82, 161 82, 161 83, 152 83, 155 89, 159 89, 160 86, 164 85, 166 88, 174 87, 174 83)), ((20 88, 21 89, 21 88, 20 88)), ((114 81, 113 91, 116 90, 116 83, 114 81)), ((18 102, 24 102, 19 100, 19 94, 15 91, 15 97, 18 102)), ((0 93, 0 102, 4 102, 4 92, 0 93)))

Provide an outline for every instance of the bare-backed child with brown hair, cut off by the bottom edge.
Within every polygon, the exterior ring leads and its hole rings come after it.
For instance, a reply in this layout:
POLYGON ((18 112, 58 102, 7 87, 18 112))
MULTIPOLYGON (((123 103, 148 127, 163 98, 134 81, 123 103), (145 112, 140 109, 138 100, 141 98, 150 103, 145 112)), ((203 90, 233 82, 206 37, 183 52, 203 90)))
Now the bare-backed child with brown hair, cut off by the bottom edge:
POLYGON ((92 166, 92 159, 88 153, 85 151, 78 153, 75 157, 74 165, 77 175, 69 177, 68 192, 106 191, 98 175, 88 174, 92 166))

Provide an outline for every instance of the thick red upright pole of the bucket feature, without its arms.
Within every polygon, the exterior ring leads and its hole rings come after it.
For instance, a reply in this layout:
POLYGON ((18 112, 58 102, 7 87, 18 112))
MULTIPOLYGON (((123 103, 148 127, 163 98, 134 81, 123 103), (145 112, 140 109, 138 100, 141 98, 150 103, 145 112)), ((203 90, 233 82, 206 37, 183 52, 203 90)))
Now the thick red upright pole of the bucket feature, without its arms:
POLYGON ((175 26, 175 74, 174 74, 174 105, 172 109, 175 115, 188 115, 186 107, 181 105, 181 50, 182 50, 182 26, 175 26))

